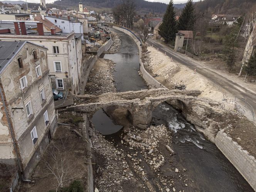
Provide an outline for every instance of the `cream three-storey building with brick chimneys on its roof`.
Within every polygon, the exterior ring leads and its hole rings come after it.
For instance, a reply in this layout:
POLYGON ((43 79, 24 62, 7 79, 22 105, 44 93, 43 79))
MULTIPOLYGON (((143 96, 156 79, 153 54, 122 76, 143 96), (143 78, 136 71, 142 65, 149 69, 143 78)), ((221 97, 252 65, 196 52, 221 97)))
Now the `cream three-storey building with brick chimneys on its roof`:
POLYGON ((31 30, 32 22, 10 22, 8 30, 2 24, 0 40, 27 40, 47 48, 47 61, 51 74, 52 88, 62 92, 79 93, 80 83, 83 80, 82 68, 82 40, 83 34, 74 32, 44 32, 42 22, 36 22, 37 30, 31 30))

